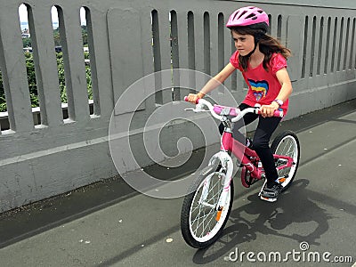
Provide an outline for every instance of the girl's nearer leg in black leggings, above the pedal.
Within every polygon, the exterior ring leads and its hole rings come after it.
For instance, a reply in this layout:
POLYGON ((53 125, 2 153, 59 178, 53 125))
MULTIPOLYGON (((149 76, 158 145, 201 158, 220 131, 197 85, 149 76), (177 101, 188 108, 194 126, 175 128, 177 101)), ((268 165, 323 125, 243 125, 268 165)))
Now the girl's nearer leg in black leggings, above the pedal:
POLYGON ((276 130, 281 117, 260 117, 254 137, 254 149, 261 159, 267 178, 267 187, 271 188, 279 178, 269 145, 271 134, 276 130))

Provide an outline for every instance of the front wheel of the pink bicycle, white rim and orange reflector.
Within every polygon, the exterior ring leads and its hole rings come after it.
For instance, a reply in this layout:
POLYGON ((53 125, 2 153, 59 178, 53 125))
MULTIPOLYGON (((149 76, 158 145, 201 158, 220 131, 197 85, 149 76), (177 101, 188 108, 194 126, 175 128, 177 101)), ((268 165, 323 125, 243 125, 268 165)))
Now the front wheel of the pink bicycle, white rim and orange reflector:
POLYGON ((190 188, 191 193, 183 200, 181 230, 183 239, 191 247, 204 248, 218 239, 231 213, 233 201, 233 182, 231 180, 228 196, 222 210, 218 201, 223 192, 225 174, 223 170, 202 171, 190 188))

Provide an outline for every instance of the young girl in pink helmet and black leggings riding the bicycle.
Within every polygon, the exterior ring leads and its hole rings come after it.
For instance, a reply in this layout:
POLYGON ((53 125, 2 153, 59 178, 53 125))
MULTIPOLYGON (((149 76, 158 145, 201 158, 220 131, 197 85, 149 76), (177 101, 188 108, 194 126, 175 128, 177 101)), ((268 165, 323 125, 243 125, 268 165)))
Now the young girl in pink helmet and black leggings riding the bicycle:
MULTIPOLYGON (((277 198, 282 186, 276 180, 279 178, 274 164, 269 142, 271 134, 279 125, 280 117, 272 117, 276 109, 287 113, 288 96, 292 93, 292 85, 287 73, 287 57, 290 50, 279 41, 266 35, 269 27, 268 15, 262 9, 254 6, 239 8, 233 12, 226 24, 231 29, 231 36, 237 51, 232 54, 230 63, 212 78, 198 94, 190 93, 188 101, 196 102, 206 93, 214 90, 219 83, 239 69, 248 85, 247 96, 239 105, 239 109, 261 105, 261 116, 248 113, 243 117, 248 125, 257 117, 253 147, 261 159, 266 174, 266 186, 262 197, 277 198)), ((238 124, 234 125, 234 133, 238 124)), ((263 199, 263 198, 262 198, 263 199)))

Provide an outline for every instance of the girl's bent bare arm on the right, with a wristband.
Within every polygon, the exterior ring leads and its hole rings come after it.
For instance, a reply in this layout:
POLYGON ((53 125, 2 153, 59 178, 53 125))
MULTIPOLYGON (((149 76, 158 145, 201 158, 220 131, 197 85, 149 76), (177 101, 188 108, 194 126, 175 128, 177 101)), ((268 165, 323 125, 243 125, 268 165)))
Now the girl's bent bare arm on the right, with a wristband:
MULTIPOLYGON (((285 102, 293 91, 292 82, 290 81, 287 69, 279 69, 276 72, 276 77, 280 85, 282 85, 276 99, 285 102)), ((263 105, 261 107, 261 115, 263 117, 272 117, 274 110, 277 109, 279 109, 279 104, 276 101, 272 101, 270 105, 263 105)))

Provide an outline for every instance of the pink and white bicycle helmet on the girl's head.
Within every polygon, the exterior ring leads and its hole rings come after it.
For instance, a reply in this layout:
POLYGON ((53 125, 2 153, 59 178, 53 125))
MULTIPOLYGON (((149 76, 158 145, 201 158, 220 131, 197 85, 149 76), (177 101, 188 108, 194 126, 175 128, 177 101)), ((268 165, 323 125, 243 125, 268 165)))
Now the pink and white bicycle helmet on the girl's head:
POLYGON ((267 32, 270 22, 266 12, 259 7, 245 6, 233 12, 226 23, 227 28, 247 26, 267 32))

